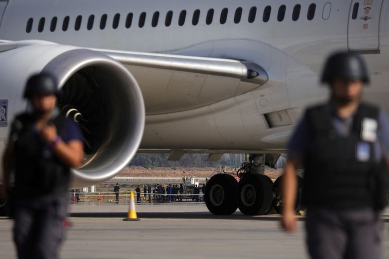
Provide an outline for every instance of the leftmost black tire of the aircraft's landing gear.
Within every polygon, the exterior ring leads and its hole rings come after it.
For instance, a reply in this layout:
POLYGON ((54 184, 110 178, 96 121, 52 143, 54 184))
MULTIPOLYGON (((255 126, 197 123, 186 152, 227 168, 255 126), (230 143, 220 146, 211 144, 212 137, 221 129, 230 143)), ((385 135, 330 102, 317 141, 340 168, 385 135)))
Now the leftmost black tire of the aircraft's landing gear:
POLYGON ((214 175, 207 184, 204 200, 209 211, 215 215, 230 215, 238 208, 236 189, 238 182, 230 175, 214 175))

